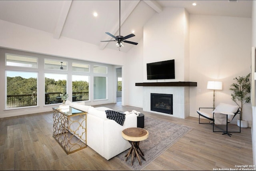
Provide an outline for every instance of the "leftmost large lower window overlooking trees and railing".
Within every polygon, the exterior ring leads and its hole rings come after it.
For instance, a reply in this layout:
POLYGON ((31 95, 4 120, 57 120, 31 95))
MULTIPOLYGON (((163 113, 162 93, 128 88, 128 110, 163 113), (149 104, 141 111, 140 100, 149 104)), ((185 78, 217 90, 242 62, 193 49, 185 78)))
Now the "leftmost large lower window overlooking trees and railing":
POLYGON ((6 109, 37 105, 38 73, 6 71, 6 109))

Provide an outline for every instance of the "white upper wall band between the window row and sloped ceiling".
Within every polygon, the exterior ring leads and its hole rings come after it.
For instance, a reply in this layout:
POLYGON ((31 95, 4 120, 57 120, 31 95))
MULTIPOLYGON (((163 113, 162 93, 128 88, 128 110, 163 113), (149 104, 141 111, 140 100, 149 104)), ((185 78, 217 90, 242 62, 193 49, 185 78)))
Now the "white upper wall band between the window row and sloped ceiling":
POLYGON ((86 42, 53 35, 33 28, 0 20, 0 47, 75 58, 106 64, 123 65, 125 53, 99 47, 86 42))

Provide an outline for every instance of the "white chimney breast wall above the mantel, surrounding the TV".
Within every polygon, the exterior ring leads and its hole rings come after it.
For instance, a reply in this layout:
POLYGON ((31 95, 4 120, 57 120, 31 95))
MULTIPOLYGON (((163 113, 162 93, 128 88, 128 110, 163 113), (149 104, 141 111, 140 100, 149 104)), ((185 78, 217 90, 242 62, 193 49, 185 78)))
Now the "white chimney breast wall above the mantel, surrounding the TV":
MULTIPOLYGON (((184 8, 163 8, 145 24, 144 39, 144 73, 143 82, 156 82, 147 80, 146 64, 164 60, 175 60, 175 79, 158 80, 158 82, 185 81, 185 52, 188 59, 188 16, 184 8), (187 35, 187 37, 186 37, 187 35)), ((187 68, 186 68, 187 69, 187 68)))

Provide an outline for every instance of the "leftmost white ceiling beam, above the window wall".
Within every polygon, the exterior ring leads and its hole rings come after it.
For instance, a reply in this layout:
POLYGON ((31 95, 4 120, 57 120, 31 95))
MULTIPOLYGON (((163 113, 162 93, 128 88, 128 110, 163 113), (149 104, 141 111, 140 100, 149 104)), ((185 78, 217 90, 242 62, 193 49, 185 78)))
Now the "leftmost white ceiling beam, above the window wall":
POLYGON ((54 34, 53 34, 54 39, 60 38, 60 34, 61 34, 63 26, 65 24, 66 18, 68 16, 68 11, 70 9, 71 3, 72 3, 72 0, 64 0, 63 1, 62 8, 60 11, 60 16, 58 18, 58 22, 55 26, 55 30, 54 30, 54 34))

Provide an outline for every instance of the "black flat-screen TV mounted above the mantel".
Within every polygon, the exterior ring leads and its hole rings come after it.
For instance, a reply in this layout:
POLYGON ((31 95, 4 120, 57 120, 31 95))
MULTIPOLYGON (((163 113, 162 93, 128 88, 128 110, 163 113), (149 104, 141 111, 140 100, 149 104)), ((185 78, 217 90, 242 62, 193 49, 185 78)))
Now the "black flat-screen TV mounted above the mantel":
POLYGON ((148 63, 147 79, 175 79, 174 60, 148 63))

